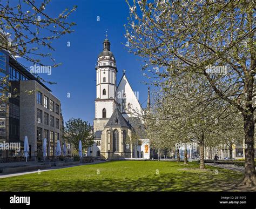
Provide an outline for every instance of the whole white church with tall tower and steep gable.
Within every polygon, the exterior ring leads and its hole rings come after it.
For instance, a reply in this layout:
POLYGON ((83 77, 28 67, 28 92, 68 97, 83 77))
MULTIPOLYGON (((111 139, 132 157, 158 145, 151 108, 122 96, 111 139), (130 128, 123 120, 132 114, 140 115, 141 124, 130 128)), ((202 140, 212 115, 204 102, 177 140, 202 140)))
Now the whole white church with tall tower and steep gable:
MULTIPOLYGON (((123 71, 117 83, 116 59, 106 38, 96 66, 95 144, 89 155, 101 159, 150 159, 150 144, 138 113, 143 113, 138 95, 123 71), (141 130, 140 130, 141 129, 141 130), (136 134, 134 134, 136 133, 136 134), (134 136, 137 138, 134 140, 134 136), (136 144, 132 141, 137 141, 136 144)), ((148 90, 148 104, 150 96, 148 90)))

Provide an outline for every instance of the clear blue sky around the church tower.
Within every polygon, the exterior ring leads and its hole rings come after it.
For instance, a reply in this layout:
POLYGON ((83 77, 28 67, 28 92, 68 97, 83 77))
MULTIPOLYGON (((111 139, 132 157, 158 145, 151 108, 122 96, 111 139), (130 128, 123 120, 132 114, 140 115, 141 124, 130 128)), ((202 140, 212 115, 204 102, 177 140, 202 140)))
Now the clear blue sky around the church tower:
MULTIPOLYGON (((71 9, 77 5, 69 21, 76 22, 75 32, 57 39, 53 44, 56 49, 52 52, 56 63, 62 63, 52 69, 52 75, 40 74, 42 78, 57 82, 48 85, 53 95, 62 102, 62 112, 65 122, 69 118, 82 118, 91 124, 95 117, 96 70, 97 56, 103 50, 106 29, 111 42, 111 51, 117 62, 119 82, 126 70, 126 76, 133 91, 139 92, 139 101, 146 105, 147 86, 143 83, 146 78, 141 70, 141 63, 124 48, 124 24, 127 24, 129 8, 125 0, 52 0, 46 8, 51 16, 56 16, 65 8, 71 9), (99 16, 100 21, 97 21, 99 16), (70 42, 71 46, 67 46, 70 42), (70 98, 67 94, 70 93, 70 98)), ((19 60, 20 61, 20 60, 19 60)), ((22 62, 25 66, 29 63, 22 62)))

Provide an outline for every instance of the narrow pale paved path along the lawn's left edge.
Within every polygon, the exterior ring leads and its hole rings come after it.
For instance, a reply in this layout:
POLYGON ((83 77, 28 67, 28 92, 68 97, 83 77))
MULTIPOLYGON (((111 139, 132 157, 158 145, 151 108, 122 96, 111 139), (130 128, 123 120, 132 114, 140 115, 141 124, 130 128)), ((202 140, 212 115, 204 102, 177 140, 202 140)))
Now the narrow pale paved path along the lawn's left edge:
MULTIPOLYGON (((40 172, 45 172, 45 171, 52 171, 52 170, 58 170, 62 168, 68 168, 68 167, 75 167, 75 166, 81 166, 81 165, 92 165, 92 164, 99 164, 99 163, 106 163, 107 161, 95 161, 93 163, 80 163, 77 165, 69 165, 69 166, 62 166, 62 167, 51 167, 50 169, 44 169, 44 170, 39 170, 40 172)), ((2 174, 0 173, 0 179, 2 178, 8 178, 8 177, 16 177, 16 176, 22 176, 26 174, 31 174, 31 173, 38 173, 37 171, 28 171, 28 172, 19 172, 19 173, 10 173, 10 174, 2 174)))

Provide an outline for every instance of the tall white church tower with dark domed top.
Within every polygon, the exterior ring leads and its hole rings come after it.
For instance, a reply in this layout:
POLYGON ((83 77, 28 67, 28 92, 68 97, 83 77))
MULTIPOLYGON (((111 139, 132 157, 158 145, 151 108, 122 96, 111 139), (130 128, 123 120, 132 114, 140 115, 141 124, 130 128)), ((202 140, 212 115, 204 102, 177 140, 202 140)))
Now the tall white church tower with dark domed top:
POLYGON ((103 42, 96 65, 95 131, 103 130, 117 105, 117 67, 109 39, 103 42))

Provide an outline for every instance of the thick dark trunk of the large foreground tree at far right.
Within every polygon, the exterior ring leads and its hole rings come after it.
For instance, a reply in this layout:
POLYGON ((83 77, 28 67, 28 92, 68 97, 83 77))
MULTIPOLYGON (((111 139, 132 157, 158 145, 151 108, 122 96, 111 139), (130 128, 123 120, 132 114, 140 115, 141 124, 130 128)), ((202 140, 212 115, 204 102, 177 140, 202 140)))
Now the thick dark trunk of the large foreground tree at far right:
POLYGON ((246 112, 244 115, 245 131, 245 176, 242 185, 253 186, 255 180, 254 167, 254 117, 253 112, 246 112))

